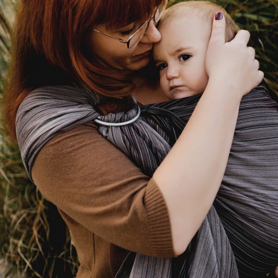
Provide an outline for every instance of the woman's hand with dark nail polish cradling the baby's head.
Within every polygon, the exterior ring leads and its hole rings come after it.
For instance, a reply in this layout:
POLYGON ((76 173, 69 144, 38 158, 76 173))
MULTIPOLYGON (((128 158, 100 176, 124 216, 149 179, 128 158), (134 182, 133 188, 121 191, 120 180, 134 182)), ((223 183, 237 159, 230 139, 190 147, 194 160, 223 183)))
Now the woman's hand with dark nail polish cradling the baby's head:
POLYGON ((232 88, 240 99, 264 77, 255 60, 255 50, 247 47, 249 38, 248 31, 240 30, 232 41, 225 43, 225 18, 214 18, 206 56, 209 82, 216 82, 224 92, 225 88, 232 88))

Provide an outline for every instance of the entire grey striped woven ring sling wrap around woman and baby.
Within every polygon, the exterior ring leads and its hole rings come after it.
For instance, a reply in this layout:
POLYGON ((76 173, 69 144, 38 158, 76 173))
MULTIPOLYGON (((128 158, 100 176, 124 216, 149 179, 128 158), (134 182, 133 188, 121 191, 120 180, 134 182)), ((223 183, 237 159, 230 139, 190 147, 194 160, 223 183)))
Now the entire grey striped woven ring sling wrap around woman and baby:
MULTIPOLYGON (((224 92, 223 92, 224 93, 224 92)), ((189 120, 201 95, 141 107, 141 117, 99 132, 151 176, 189 120)), ((101 116, 94 107, 106 98, 83 88, 48 86, 21 103, 16 134, 31 177, 43 145, 60 132, 98 116, 125 122, 128 111, 101 116)), ((178 258, 130 252, 117 278, 265 277, 278 265, 278 111, 263 87, 242 98, 226 171, 214 204, 188 249, 178 258)))

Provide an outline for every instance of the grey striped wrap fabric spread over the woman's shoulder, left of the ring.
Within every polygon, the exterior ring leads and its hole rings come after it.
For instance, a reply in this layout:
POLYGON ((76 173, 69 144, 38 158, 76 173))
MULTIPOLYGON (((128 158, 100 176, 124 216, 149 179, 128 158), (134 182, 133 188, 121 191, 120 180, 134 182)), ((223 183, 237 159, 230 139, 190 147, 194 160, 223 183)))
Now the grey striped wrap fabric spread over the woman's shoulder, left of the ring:
POLYGON ((53 137, 85 123, 93 123, 99 113, 97 96, 84 88, 44 86, 32 90, 21 102, 15 120, 22 160, 30 175, 35 156, 53 137))

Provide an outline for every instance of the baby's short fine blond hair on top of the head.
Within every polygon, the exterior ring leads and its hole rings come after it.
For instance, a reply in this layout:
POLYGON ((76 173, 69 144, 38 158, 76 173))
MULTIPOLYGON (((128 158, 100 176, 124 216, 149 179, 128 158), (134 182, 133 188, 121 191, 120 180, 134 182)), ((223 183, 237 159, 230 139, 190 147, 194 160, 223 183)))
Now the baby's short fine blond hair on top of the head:
POLYGON ((202 18, 204 24, 209 27, 211 31, 213 17, 218 11, 222 12, 225 16, 225 42, 229 42, 234 38, 239 27, 223 7, 209 1, 184 1, 167 8, 160 19, 159 28, 169 23, 169 21, 181 19, 185 16, 194 16, 202 18))

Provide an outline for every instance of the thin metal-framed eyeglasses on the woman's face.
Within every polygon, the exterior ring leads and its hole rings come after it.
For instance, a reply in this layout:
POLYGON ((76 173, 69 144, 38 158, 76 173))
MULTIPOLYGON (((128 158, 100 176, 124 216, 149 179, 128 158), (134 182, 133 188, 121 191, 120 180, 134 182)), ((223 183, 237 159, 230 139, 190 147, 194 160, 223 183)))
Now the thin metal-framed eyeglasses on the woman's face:
POLYGON ((141 27, 139 27, 139 29, 137 29, 130 37, 127 41, 114 37, 112 35, 109 35, 107 33, 103 33, 101 31, 98 31, 96 29, 93 29, 93 31, 96 31, 98 33, 101 33, 103 35, 106 35, 108 37, 114 38, 119 40, 121 43, 126 43, 128 49, 133 49, 134 47, 136 47, 139 43, 139 41, 141 40, 141 38, 143 37, 143 35, 145 34, 145 32, 147 31, 147 28, 149 26, 149 22, 153 19, 154 22, 158 22, 159 19, 161 18, 165 8, 167 5, 167 1, 163 1, 154 11, 153 15, 151 16, 151 18, 149 18, 141 27))

